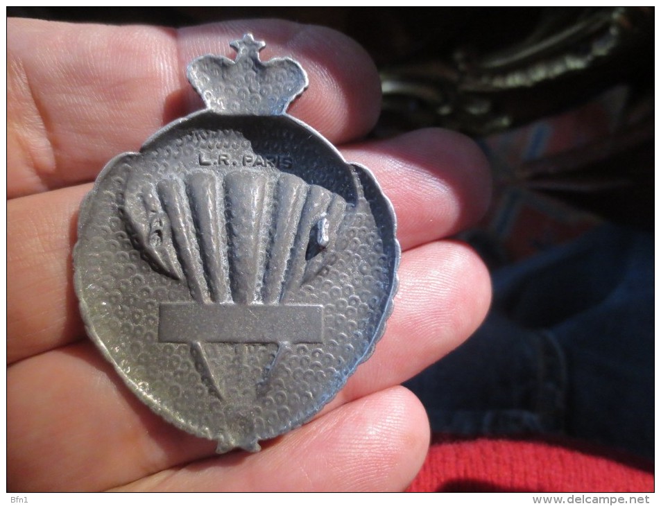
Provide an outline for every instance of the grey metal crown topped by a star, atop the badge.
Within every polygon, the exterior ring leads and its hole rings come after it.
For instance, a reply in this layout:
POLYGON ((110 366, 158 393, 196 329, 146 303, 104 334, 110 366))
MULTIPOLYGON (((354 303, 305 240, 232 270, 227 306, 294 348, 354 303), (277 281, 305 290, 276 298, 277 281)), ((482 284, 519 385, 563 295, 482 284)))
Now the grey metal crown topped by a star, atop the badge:
POLYGON ((234 61, 206 55, 188 66, 188 80, 207 108, 222 114, 270 116, 284 114, 307 87, 307 74, 291 58, 259 59, 266 44, 251 33, 230 43, 234 61))

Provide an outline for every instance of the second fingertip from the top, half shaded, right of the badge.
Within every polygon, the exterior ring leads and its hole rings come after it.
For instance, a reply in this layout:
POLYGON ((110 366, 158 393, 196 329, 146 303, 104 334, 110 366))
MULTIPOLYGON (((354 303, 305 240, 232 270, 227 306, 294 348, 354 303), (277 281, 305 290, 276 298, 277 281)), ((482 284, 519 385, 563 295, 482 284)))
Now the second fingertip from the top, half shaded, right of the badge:
POLYGON ((407 250, 473 225, 488 208, 489 164, 462 134, 429 128, 343 149, 372 170, 393 202, 407 250))

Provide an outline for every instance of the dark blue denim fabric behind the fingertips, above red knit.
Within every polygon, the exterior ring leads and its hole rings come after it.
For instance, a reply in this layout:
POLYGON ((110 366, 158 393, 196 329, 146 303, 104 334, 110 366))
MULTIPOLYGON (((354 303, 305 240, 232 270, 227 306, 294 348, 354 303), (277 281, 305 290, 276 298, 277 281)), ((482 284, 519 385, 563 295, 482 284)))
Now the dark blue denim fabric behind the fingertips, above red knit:
POLYGON ((406 384, 435 432, 567 435, 653 459, 654 246, 604 226, 492 274, 461 347, 406 384))

